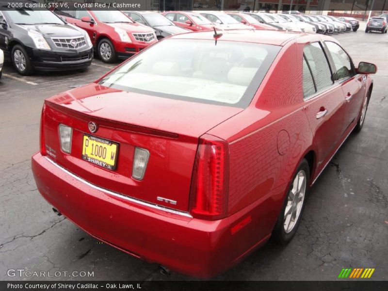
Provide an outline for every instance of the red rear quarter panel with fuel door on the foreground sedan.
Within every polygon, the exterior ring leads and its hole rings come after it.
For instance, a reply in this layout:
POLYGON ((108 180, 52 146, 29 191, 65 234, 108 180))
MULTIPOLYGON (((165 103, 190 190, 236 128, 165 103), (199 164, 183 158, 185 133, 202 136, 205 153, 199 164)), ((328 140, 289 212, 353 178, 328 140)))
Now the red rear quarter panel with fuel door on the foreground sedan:
POLYGON ((302 57, 296 44, 286 45, 250 106, 210 130, 229 142, 228 214, 257 204, 260 237, 272 231, 296 167, 313 148, 303 111, 302 57))

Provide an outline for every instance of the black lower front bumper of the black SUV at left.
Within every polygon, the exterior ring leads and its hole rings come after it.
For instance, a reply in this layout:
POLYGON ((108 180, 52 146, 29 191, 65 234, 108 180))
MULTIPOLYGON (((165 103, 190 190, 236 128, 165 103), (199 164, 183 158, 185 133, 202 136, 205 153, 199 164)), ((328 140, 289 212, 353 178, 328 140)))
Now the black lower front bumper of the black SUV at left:
POLYGON ((27 48, 27 52, 34 68, 40 71, 77 70, 93 61, 93 48, 78 52, 27 48))

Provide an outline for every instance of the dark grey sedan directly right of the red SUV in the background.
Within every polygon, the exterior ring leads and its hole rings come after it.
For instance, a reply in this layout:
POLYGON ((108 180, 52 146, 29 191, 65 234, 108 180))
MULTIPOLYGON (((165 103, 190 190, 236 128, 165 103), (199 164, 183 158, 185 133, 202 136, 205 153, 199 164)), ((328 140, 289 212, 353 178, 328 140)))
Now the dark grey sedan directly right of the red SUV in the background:
POLYGON ((154 29, 156 38, 190 32, 190 30, 175 25, 174 22, 156 12, 150 11, 123 11, 133 21, 145 24, 154 29))

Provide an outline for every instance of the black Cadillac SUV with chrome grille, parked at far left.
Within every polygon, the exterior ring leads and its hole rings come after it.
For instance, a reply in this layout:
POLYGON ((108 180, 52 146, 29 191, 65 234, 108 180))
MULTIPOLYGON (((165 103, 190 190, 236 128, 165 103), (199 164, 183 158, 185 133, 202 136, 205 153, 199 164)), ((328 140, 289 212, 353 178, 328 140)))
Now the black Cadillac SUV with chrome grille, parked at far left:
POLYGON ((11 9, 8 2, 0 0, 0 49, 19 74, 84 69, 92 63, 93 46, 85 31, 47 9, 11 9))

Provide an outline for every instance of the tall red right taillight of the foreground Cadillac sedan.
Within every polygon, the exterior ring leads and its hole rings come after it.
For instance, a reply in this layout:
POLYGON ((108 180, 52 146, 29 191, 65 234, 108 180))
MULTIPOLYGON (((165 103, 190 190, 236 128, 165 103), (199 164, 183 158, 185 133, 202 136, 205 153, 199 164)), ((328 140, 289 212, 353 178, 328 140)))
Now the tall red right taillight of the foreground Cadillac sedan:
POLYGON ((190 213, 195 218, 226 217, 229 177, 229 147, 210 134, 199 139, 190 192, 190 213))

